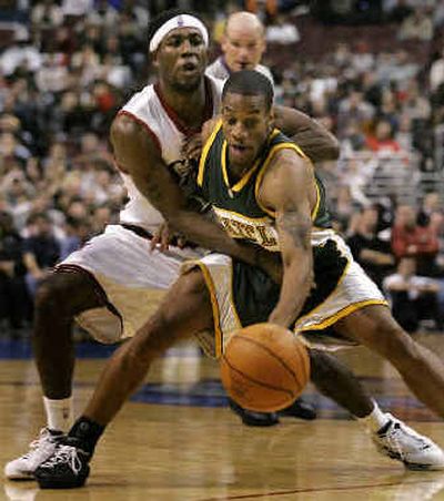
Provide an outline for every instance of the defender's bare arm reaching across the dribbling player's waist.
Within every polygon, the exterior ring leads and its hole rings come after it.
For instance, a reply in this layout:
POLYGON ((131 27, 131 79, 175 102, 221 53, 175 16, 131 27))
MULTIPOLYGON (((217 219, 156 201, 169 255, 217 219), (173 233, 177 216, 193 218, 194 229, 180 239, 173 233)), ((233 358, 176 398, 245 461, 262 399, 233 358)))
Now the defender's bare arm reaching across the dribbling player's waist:
POLYGON ((278 264, 266 256, 266 252, 234 241, 216 223, 189 209, 184 194, 142 125, 129 116, 118 116, 111 126, 111 143, 119 167, 131 175, 142 195, 173 229, 203 247, 261 266, 278 280, 278 264))

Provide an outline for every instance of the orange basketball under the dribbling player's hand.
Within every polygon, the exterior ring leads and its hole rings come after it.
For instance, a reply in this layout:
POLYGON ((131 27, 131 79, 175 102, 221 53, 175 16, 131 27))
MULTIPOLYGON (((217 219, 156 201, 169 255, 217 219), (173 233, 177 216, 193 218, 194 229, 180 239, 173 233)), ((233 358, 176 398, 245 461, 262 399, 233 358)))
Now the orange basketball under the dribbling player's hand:
POLYGON ((244 409, 274 412, 302 393, 310 379, 309 352, 290 330, 255 324, 230 338, 221 378, 229 396, 244 409))

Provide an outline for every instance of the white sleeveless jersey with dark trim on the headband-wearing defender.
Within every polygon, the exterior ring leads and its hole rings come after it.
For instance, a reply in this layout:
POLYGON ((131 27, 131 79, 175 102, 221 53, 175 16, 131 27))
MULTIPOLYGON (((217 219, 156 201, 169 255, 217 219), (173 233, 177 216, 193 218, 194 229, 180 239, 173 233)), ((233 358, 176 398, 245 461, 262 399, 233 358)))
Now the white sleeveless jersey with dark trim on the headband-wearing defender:
MULTIPOLYGON (((222 82, 208 76, 205 79, 205 90, 208 106, 205 120, 209 120, 219 111, 222 82)), ((167 165, 180 174, 180 167, 183 165, 181 154, 183 141, 198 131, 186 130, 181 125, 174 111, 164 102, 158 85, 143 88, 130 99, 119 113, 132 116, 137 122, 141 123, 154 139, 167 165)), ((120 213, 120 222, 155 232, 158 226, 164 221, 163 216, 140 193, 131 176, 123 173, 121 175, 130 200, 120 213)))

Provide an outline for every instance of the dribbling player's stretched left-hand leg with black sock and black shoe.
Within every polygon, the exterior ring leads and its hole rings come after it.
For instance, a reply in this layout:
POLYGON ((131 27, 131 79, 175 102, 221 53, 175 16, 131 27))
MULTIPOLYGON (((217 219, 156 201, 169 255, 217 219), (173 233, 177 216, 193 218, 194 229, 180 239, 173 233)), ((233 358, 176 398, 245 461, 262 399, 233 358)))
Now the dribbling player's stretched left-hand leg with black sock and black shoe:
POLYGON ((151 362, 178 340, 213 329, 211 299, 202 273, 182 275, 142 329, 111 357, 87 409, 64 444, 36 471, 42 488, 80 487, 105 426, 143 381, 151 362))

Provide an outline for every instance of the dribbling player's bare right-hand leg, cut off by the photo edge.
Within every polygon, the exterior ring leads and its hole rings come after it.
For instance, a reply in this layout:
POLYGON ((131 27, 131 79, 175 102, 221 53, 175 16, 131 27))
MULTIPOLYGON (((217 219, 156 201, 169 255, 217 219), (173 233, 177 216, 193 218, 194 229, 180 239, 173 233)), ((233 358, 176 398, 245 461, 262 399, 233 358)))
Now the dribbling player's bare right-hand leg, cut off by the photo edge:
POLYGON ((335 325, 335 330, 386 358, 415 396, 444 418, 444 365, 395 321, 385 306, 359 309, 335 325))

